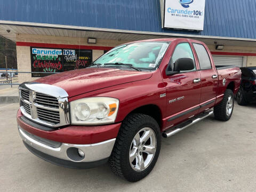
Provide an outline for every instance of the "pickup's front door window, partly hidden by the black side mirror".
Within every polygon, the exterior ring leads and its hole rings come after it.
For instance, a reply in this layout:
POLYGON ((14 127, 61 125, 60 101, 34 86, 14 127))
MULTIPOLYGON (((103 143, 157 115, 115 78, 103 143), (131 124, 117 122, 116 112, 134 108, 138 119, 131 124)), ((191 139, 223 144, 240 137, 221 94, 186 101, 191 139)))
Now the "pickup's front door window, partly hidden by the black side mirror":
MULTIPOLYGON (((172 58, 171 58, 172 69, 173 69, 173 65, 174 65, 175 61, 180 58, 191 58, 191 59, 193 59, 193 61, 195 63, 194 55, 193 55, 193 52, 191 50, 189 43, 180 43, 175 47, 175 50, 174 50, 174 52, 172 54, 172 58)), ((172 69, 170 69, 170 70, 172 70, 172 69)), ((194 71, 194 70, 196 70, 196 66, 194 67, 194 69, 189 70, 189 71, 194 71)), ((180 72, 185 73, 188 71, 180 71, 180 72)))

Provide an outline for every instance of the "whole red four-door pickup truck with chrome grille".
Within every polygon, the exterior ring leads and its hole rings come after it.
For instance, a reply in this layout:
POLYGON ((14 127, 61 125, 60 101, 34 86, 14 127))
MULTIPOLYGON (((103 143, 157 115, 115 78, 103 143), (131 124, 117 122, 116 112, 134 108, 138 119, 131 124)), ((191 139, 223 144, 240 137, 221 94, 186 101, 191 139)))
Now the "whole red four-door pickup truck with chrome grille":
POLYGON ((211 114, 228 121, 240 82, 241 70, 216 68, 202 42, 127 43, 88 68, 22 83, 18 130, 28 150, 48 162, 109 162, 117 175, 138 181, 153 169, 162 135, 211 114))

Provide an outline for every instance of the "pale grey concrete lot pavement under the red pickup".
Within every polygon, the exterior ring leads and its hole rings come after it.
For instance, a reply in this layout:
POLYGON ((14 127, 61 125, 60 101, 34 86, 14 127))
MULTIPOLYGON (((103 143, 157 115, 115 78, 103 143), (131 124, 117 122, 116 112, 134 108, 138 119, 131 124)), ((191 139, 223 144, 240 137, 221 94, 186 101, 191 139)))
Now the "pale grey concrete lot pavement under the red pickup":
POLYGON ((130 183, 108 165, 56 166, 31 154, 18 135, 18 103, 0 104, 0 191, 255 191, 256 105, 235 105, 228 122, 204 119, 164 139, 154 170, 130 183))

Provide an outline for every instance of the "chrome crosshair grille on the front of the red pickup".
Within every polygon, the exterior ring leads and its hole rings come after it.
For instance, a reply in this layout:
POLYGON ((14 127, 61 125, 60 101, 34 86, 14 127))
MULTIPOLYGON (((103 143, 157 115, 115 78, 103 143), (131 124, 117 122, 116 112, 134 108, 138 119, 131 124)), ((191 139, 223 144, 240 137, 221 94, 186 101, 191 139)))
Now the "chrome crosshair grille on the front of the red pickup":
POLYGON ((20 109, 27 118, 52 127, 69 124, 68 94, 65 90, 53 85, 30 83, 21 84, 19 89, 20 109))

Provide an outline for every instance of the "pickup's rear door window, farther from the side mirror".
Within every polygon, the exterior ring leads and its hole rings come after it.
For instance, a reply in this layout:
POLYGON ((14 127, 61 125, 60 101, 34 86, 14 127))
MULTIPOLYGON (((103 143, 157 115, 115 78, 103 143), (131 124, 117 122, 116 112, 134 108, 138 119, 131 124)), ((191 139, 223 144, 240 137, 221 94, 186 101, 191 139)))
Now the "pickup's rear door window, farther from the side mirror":
POLYGON ((193 43, 199 60, 200 69, 211 69, 211 61, 204 45, 193 43))

